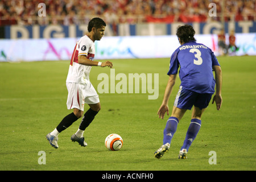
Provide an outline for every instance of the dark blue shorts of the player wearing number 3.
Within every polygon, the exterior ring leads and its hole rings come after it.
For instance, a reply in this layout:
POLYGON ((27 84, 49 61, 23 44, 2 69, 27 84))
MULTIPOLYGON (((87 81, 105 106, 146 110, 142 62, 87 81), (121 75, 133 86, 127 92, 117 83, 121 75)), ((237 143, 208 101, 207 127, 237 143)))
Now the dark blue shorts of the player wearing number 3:
POLYGON ((208 107, 212 93, 196 93, 191 90, 184 89, 180 86, 179 92, 175 98, 174 106, 180 109, 191 110, 192 106, 204 109, 208 107))

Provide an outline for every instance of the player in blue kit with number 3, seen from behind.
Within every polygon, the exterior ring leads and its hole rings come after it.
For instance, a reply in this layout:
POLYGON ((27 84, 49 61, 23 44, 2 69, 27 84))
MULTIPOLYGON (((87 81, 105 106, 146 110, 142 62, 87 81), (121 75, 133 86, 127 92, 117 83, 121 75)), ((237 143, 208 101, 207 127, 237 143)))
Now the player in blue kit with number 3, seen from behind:
POLYGON ((177 124, 185 114, 185 111, 192 110, 191 123, 180 148, 179 159, 186 159, 187 152, 193 140, 201 127, 201 116, 214 93, 216 84, 216 93, 213 97, 212 104, 216 102, 217 110, 220 110, 222 97, 222 72, 216 56, 210 48, 203 44, 196 43, 194 38, 195 30, 192 26, 185 24, 177 28, 177 38, 180 47, 175 50, 171 56, 170 69, 167 73, 169 80, 164 92, 162 105, 158 110, 159 118, 164 118, 164 114, 169 115, 168 101, 174 87, 178 68, 180 67, 179 77, 181 80, 180 89, 175 98, 174 107, 171 117, 167 120, 166 127, 163 131, 163 145, 155 151, 155 158, 162 158, 171 144, 177 124), (215 72, 215 79, 213 72, 215 72))

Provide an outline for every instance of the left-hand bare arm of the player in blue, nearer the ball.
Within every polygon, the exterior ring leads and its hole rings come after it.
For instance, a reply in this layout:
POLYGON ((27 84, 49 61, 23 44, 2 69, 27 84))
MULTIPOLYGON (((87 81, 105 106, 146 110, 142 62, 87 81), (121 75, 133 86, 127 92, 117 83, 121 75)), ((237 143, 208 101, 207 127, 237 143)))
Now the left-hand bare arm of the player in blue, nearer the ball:
POLYGON ((176 74, 170 75, 169 80, 167 82, 166 90, 164 91, 163 102, 158 110, 158 115, 159 115, 159 118, 161 119, 164 118, 164 114, 166 114, 166 112, 167 112, 167 115, 169 115, 168 101, 170 99, 172 89, 174 88, 174 85, 175 85, 176 76, 177 76, 176 74))

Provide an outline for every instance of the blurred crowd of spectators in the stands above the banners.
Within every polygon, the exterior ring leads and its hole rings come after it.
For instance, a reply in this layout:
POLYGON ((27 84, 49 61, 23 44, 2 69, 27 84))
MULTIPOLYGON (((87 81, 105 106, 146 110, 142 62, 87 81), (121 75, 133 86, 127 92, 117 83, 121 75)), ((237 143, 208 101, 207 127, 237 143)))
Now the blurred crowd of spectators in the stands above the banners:
MULTIPOLYGON (((141 22, 209 22, 221 20, 221 0, 0 0, 0 26, 10 24, 87 24, 98 16, 113 26, 141 22), (38 16, 39 3, 46 16, 38 16), (216 15, 208 12, 216 4, 216 15)), ((224 1, 225 21, 256 20, 255 0, 224 1)))

